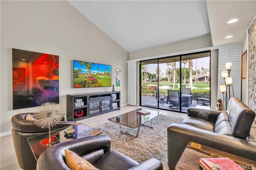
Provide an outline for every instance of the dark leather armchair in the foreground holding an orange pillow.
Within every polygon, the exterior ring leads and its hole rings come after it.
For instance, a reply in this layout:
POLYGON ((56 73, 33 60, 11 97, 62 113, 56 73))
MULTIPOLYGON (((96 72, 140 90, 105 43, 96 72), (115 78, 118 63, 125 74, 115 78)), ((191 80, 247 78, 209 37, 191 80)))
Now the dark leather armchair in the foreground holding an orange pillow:
POLYGON ((66 165, 64 150, 68 149, 100 170, 162 170, 162 163, 150 158, 138 163, 131 158, 110 149, 111 142, 108 136, 90 136, 69 140, 55 144, 45 150, 40 157, 36 168, 38 170, 70 170, 66 165))

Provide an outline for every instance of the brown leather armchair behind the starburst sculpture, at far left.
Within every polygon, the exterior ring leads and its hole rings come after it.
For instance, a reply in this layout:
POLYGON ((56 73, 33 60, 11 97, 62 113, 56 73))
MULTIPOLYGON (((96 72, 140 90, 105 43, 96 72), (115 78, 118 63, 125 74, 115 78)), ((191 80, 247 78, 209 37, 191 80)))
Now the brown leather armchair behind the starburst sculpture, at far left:
MULTIPOLYGON (((12 117, 12 138, 14 150, 20 168, 24 170, 36 169, 36 159, 30 148, 27 138, 36 136, 42 133, 49 133, 47 128, 39 128, 34 124, 34 121, 25 120, 27 114, 33 115, 34 113, 21 113, 12 117)), ((76 122, 61 121, 51 130, 74 125, 76 122)))

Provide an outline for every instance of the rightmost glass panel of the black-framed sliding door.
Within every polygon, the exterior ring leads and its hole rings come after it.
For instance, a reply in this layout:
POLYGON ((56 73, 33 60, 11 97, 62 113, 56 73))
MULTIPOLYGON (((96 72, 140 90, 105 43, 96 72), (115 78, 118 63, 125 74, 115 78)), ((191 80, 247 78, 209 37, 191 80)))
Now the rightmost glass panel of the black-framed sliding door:
POLYGON ((210 52, 181 56, 182 112, 188 107, 210 107, 210 52))

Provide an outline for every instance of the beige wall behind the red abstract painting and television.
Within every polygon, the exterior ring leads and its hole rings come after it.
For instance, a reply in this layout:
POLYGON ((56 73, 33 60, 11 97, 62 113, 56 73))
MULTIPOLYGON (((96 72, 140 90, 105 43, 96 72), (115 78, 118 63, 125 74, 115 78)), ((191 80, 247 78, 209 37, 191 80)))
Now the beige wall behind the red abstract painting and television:
POLYGON ((111 91, 112 87, 74 89, 73 60, 120 68, 121 104, 127 103, 128 52, 109 38, 67 1, 0 1, 0 132, 12 129, 11 118, 18 113, 35 112, 38 107, 12 110, 12 48, 59 55, 60 104, 66 112, 66 94, 111 91))

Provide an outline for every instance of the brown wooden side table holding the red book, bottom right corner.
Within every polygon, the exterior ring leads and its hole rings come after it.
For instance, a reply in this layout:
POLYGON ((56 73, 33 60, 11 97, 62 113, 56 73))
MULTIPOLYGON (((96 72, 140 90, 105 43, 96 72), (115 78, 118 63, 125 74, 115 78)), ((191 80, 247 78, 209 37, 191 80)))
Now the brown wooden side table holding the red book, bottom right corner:
POLYGON ((175 166, 175 170, 200 170, 199 158, 219 158, 225 157, 230 158, 245 170, 252 170, 256 168, 256 161, 242 158, 234 154, 230 154, 221 150, 211 148, 209 146, 204 146, 202 144, 195 144, 201 148, 194 148, 194 142, 189 142, 185 148, 180 160, 175 166))

